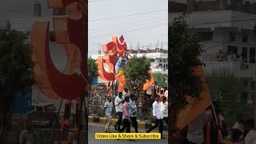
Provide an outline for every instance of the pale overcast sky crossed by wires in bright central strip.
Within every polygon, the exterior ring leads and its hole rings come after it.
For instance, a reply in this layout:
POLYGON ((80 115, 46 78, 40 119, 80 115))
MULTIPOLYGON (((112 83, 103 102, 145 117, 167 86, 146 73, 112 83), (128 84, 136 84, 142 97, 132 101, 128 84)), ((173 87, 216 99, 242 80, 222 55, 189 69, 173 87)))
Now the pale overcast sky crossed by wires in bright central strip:
POLYGON ((115 34, 123 34, 128 47, 167 47, 168 0, 90 0, 88 11, 89 56, 115 34))

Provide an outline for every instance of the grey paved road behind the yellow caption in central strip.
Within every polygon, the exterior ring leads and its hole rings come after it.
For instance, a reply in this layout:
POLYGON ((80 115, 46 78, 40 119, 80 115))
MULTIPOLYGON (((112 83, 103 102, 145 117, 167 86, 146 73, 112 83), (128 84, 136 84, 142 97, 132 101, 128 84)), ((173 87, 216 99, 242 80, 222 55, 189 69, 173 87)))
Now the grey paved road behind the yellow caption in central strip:
MULTIPOLYGON (((94 138, 94 134, 95 133, 102 133, 104 131, 104 126, 102 124, 99 123, 89 123, 88 126, 88 143, 89 144, 113 144, 113 143, 123 143, 125 142, 125 144, 135 144, 135 143, 139 143, 139 144, 156 144, 156 142, 158 142, 158 144, 168 144, 168 140, 167 139, 160 139, 160 140, 135 140, 135 141, 128 141, 128 140, 98 140, 94 138)), ((110 131, 112 132, 116 132, 114 130, 114 127, 111 127, 110 131)), ((131 132, 134 132, 134 128, 131 128, 131 132)), ((145 132, 145 130, 139 130, 139 132, 145 132)), ((167 138, 167 134, 166 132, 164 132, 164 136, 167 138)))

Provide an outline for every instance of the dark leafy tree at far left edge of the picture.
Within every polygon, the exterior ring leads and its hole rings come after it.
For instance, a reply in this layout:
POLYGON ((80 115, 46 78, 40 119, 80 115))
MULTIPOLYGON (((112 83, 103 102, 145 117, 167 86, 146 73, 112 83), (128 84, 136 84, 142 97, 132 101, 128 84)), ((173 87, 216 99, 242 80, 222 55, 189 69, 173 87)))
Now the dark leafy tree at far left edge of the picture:
POLYGON ((0 128, 10 127, 14 94, 25 92, 33 84, 31 46, 26 34, 11 29, 10 22, 0 27, 0 128), (3 120, 6 121, 3 121, 3 120))

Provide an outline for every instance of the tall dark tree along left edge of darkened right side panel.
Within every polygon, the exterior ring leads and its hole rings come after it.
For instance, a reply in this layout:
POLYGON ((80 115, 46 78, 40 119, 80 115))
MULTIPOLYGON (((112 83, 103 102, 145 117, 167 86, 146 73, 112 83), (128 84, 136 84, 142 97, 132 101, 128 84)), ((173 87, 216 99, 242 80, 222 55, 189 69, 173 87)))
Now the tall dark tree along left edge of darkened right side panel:
POLYGON ((174 18, 168 33, 168 63, 170 88, 170 134, 176 130, 177 115, 186 108, 187 96, 198 98, 202 90, 201 81, 193 68, 201 66, 198 56, 202 53, 197 35, 190 32, 185 15, 174 18))

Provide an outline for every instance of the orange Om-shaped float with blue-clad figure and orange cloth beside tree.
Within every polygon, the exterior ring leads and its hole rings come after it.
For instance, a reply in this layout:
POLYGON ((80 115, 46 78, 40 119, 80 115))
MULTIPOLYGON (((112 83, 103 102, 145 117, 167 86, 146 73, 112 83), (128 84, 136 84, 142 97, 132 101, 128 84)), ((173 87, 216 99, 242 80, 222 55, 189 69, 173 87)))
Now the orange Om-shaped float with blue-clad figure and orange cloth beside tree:
MULTIPOLYGON (((132 58, 127 50, 125 39, 122 35, 120 38, 113 36, 111 42, 106 42, 102 45, 102 51, 105 55, 98 57, 99 77, 106 83, 113 84, 114 81, 118 82, 118 92, 123 92, 126 86, 124 70, 126 70, 129 58, 132 58), (106 70, 105 65, 108 66, 108 70, 106 70)), ((154 84, 152 71, 149 70, 148 72, 150 79, 146 80, 146 83, 142 86, 143 90, 149 89, 154 84)))

